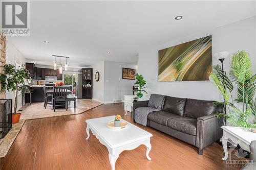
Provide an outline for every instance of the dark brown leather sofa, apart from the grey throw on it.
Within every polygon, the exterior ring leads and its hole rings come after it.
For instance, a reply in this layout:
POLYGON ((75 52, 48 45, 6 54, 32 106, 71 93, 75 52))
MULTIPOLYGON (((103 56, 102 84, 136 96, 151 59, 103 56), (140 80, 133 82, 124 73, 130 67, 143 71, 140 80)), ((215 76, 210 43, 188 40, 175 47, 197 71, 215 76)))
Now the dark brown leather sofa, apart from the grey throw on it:
MULTIPOLYGON (((216 112, 222 112, 223 107, 212 102, 165 96, 162 109, 148 113, 146 124, 194 145, 202 155, 207 145, 222 137, 220 127, 223 125, 223 119, 218 119, 216 112)), ((146 109, 148 101, 134 102, 133 119, 136 109, 140 108, 140 112, 143 110, 141 107, 146 109)))

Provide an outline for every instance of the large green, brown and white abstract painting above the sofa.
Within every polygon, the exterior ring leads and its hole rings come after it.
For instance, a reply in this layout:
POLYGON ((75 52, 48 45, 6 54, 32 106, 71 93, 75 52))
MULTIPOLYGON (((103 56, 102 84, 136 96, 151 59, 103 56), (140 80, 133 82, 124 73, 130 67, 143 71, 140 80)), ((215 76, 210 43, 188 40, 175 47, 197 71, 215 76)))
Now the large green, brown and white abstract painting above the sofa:
POLYGON ((211 70, 211 36, 158 51, 160 82, 208 80, 211 70))

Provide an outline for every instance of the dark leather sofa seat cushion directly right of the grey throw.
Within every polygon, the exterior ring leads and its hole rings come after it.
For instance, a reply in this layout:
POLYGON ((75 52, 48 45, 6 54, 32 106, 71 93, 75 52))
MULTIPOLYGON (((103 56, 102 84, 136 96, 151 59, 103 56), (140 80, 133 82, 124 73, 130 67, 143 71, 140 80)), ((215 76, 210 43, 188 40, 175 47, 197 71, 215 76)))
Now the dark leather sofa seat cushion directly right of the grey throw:
POLYGON ((180 117, 177 114, 172 114, 164 111, 154 111, 147 115, 147 118, 152 120, 155 123, 167 126, 167 122, 170 118, 180 117))

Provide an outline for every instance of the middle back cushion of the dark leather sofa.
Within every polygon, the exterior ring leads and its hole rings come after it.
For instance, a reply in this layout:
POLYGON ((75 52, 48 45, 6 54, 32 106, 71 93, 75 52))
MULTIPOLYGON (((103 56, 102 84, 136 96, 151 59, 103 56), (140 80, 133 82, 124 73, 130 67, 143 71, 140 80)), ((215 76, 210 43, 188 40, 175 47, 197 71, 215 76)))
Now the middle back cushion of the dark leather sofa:
POLYGON ((174 98, 166 96, 163 111, 174 113, 183 116, 185 109, 186 99, 184 98, 174 98))

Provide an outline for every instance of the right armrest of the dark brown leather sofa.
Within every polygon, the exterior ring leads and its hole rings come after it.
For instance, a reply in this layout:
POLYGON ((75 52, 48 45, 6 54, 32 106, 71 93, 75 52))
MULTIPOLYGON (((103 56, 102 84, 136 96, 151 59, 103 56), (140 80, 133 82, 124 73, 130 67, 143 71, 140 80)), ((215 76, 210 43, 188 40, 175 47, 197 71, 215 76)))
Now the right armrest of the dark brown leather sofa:
POLYGON ((196 147, 200 150, 222 137, 223 119, 217 118, 216 113, 197 118, 196 147))

